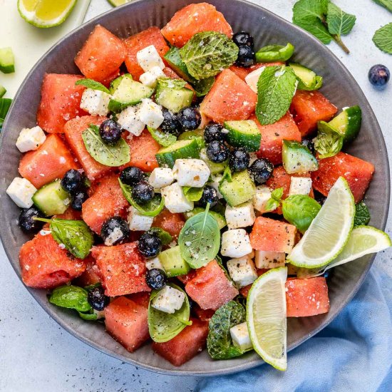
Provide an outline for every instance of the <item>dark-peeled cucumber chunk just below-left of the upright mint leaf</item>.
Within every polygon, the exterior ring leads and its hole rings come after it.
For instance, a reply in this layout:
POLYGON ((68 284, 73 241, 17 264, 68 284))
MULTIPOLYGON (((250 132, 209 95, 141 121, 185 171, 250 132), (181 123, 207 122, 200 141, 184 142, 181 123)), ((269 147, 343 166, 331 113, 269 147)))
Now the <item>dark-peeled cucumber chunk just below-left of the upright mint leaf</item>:
POLYGON ((253 120, 225 121, 227 143, 233 147, 243 147, 247 151, 258 151, 262 141, 262 134, 253 120))

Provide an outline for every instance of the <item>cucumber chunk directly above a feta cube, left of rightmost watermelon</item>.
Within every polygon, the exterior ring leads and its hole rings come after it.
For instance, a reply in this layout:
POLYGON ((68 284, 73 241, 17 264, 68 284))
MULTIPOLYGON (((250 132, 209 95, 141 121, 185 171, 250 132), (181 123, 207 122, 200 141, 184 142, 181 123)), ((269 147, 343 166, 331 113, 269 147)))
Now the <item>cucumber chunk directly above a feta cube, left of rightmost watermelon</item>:
POLYGON ((319 162, 302 143, 283 140, 283 167, 289 174, 313 172, 319 168, 319 162))

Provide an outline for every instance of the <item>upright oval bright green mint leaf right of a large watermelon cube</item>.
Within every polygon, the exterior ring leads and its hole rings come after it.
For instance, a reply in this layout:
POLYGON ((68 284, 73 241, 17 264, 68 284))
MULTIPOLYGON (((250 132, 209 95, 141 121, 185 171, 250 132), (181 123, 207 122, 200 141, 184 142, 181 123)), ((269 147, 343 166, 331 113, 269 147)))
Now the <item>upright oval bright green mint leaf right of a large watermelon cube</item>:
POLYGON ((296 76, 287 66, 266 67, 257 83, 257 119, 262 125, 276 123, 289 110, 296 91, 296 76))

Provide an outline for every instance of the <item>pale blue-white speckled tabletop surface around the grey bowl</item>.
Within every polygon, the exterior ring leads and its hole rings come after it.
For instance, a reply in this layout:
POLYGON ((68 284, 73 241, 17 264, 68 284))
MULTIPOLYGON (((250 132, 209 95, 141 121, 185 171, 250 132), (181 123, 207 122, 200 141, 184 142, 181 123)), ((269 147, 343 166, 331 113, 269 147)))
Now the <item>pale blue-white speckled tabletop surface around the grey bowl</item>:
MULTIPOLYGON (((292 17, 292 4, 295 3, 294 0, 253 2, 289 20, 292 17)), ((371 42, 373 32, 389 23, 392 16, 371 0, 357 0, 355 6, 350 0, 334 2, 346 11, 355 13, 357 23, 351 35, 344 38, 344 42, 351 49, 350 56, 346 56, 334 43, 331 43, 329 48, 339 56, 359 81, 381 124, 388 150, 392 150, 392 83, 385 91, 380 92, 370 86, 367 78, 368 68, 376 63, 384 63, 392 70, 392 56, 378 51, 371 42)), ((106 0, 93 0, 86 19, 108 9, 110 5, 106 0)), ((390 219, 387 226, 389 234, 391 229, 390 219)), ((391 256, 391 251, 381 252, 376 264, 392 276, 391 256)), ((2 247, 0 261, 1 392, 187 392, 195 387, 197 378, 162 376, 143 371, 82 344, 63 331, 36 304, 16 277, 2 247)))

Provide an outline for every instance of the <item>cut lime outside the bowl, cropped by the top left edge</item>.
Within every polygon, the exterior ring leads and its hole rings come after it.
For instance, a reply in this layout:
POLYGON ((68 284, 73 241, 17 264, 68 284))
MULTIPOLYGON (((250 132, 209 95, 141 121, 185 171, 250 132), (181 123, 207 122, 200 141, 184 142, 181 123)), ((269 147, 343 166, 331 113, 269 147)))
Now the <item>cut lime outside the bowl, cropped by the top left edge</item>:
POLYGON ((36 27, 47 28, 62 24, 77 0, 18 0, 21 17, 36 27))

